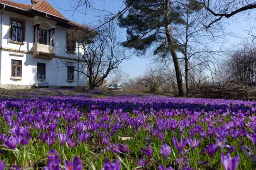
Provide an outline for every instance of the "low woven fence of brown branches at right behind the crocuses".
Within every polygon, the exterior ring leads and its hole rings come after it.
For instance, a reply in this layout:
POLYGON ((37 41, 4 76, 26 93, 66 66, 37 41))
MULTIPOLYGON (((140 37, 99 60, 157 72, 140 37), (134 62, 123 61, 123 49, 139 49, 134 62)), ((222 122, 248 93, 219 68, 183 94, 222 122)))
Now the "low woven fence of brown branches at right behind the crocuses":
POLYGON ((229 81, 223 84, 218 82, 218 85, 206 83, 204 86, 189 86, 188 97, 256 101, 256 87, 236 81, 229 81))

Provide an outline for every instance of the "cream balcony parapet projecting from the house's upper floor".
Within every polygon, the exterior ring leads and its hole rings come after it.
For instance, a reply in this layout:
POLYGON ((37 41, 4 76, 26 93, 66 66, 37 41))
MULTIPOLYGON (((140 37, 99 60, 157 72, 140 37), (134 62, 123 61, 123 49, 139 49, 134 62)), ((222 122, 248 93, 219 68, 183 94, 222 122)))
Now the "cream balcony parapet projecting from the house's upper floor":
POLYGON ((48 46, 44 44, 35 43, 33 45, 33 58, 41 58, 52 60, 54 57, 54 46, 48 46))

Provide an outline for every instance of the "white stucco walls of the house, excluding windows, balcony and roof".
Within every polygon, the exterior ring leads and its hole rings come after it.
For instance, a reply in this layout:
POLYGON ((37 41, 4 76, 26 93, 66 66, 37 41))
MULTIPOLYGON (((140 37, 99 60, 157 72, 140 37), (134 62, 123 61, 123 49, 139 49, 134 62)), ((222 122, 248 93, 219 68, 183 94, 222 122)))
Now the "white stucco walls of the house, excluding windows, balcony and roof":
MULTIPOLYGON (((45 21, 47 21, 46 19, 45 21)), ((41 21, 40 21, 41 22, 41 21)), ((19 14, 4 12, 4 20, 3 20, 3 48, 11 48, 17 50, 25 50, 25 51, 33 51, 33 40, 34 40, 34 28, 33 24, 35 23, 35 19, 25 17, 19 14), (10 43, 11 38, 9 37, 9 25, 10 25, 10 17, 18 18, 26 21, 26 42, 24 45, 17 45, 14 43, 10 43)), ((54 23, 51 23, 54 24, 54 23)), ((49 25, 45 22, 40 26, 40 28, 48 30, 49 25)), ((60 26, 53 26, 56 28, 55 30, 55 39, 54 39, 54 53, 56 56, 61 57, 70 57, 70 58, 78 58, 78 51, 76 49, 75 54, 67 54, 66 51, 66 31, 67 28, 60 26)), ((47 33, 49 34, 49 32, 47 33)), ((52 34, 51 34, 52 35, 52 34)), ((49 35, 47 35, 47 42, 49 35)), ((37 39, 37 37, 35 37, 37 39)), ((52 36, 51 36, 52 39, 52 36)), ((51 42, 52 43, 52 42, 51 42)), ((78 47, 78 46, 77 46, 78 47)), ((83 51, 83 50, 80 50, 83 51)), ((82 56, 82 54, 79 54, 82 56)), ((46 80, 44 82, 49 82, 50 86, 75 86, 86 83, 86 76, 82 73, 75 72, 74 82, 67 81, 67 67, 61 61, 69 61, 67 59, 60 60, 59 58, 53 58, 52 60, 47 59, 39 59, 33 58, 32 54, 29 53, 19 53, 12 51, 2 51, 2 62, 1 62, 1 85, 33 85, 35 82, 41 82, 37 79, 37 63, 45 63, 46 64, 46 80), (18 54, 21 56, 16 56, 14 54, 18 54), (17 59, 22 61, 22 79, 21 80, 13 80, 11 79, 11 59, 17 59)), ((71 61, 72 65, 76 68, 78 67, 78 61, 71 61)), ((81 68, 81 65, 80 65, 81 68)), ((84 70, 86 72, 86 69, 84 70)))

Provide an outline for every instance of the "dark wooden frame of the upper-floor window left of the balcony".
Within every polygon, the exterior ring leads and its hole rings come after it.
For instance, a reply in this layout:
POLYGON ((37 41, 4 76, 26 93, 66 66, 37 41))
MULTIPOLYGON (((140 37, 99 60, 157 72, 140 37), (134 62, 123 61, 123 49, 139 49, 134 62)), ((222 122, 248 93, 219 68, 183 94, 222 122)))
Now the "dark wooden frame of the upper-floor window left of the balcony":
POLYGON ((17 42, 17 43, 22 43, 26 41, 26 21, 25 20, 21 20, 18 18, 12 18, 10 17, 10 29, 9 29, 9 37, 11 38, 12 42, 17 42), (17 22, 22 24, 22 27, 18 27, 18 26, 13 26, 13 22, 17 22), (17 40, 13 40, 13 27, 15 28, 20 28, 22 30, 22 36, 21 36, 21 41, 17 41, 17 40))

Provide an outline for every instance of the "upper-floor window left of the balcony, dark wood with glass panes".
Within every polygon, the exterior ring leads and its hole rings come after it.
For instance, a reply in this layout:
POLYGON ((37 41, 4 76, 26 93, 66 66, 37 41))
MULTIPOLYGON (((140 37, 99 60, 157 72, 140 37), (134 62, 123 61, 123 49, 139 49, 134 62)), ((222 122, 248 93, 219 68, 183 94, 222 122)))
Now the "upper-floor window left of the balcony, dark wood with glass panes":
POLYGON ((11 40, 17 42, 25 41, 25 22, 11 19, 11 40))

